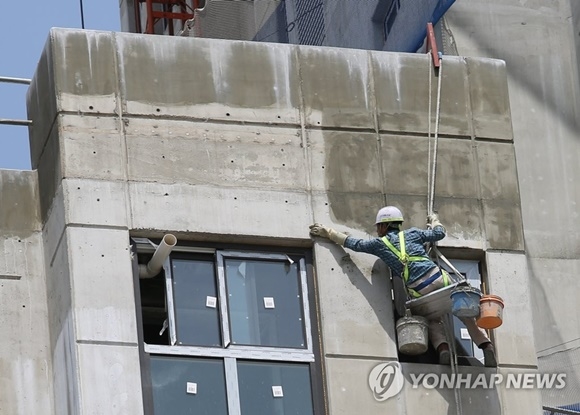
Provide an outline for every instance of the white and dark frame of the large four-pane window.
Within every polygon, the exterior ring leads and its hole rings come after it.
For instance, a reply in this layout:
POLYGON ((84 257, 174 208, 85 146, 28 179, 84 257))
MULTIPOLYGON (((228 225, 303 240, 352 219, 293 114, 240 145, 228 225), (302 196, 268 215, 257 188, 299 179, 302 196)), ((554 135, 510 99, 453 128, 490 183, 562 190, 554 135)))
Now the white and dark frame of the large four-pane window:
MULTIPOLYGON (((165 278, 165 290, 167 300, 167 320, 170 344, 148 344, 144 340, 143 321, 141 316, 141 294, 139 287, 139 275, 137 263, 137 254, 153 253, 157 245, 148 238, 132 237, 134 255, 134 278, 135 278, 135 295, 136 311, 138 314, 138 334, 139 350, 142 367, 142 384, 144 392, 144 406, 146 414, 153 414, 153 387, 151 384, 151 356, 180 356, 185 358, 216 358, 223 362, 224 376, 226 379, 227 405, 229 415, 240 415, 240 394, 237 374, 238 361, 262 362, 265 364, 303 364, 307 365, 310 374, 310 389, 312 396, 312 410, 315 415, 326 413, 326 404, 322 368, 322 351, 318 339, 319 333, 319 316, 317 306, 317 296, 315 295, 316 283, 312 269, 312 253, 307 248, 288 248, 288 247, 263 247, 263 246, 223 246, 219 244, 210 244, 208 246, 189 246, 177 245, 173 253, 179 254, 183 259, 183 254, 206 254, 213 255, 214 271, 216 278, 216 287, 218 294, 218 307, 220 317, 221 334, 227 328, 227 337, 222 337, 221 346, 190 346, 177 344, 176 316, 175 316, 175 299, 173 295, 171 255, 163 264, 165 278), (215 246, 215 247, 213 247, 215 246), (296 259, 295 257, 299 257, 296 259), (290 258, 292 257, 292 258, 290 258), (239 259, 265 259, 275 261, 294 261, 298 262, 298 278, 301 311, 303 313, 303 330, 305 348, 283 348, 276 346, 248 346, 236 345, 231 343, 229 325, 225 327, 224 321, 229 321, 227 316, 227 303, 222 298, 227 299, 227 289, 225 280, 224 260, 227 258, 239 259), (225 318, 225 320, 224 320, 225 318), (226 339, 230 343, 226 343, 226 339)), ((205 245, 205 244, 204 244, 205 245)))

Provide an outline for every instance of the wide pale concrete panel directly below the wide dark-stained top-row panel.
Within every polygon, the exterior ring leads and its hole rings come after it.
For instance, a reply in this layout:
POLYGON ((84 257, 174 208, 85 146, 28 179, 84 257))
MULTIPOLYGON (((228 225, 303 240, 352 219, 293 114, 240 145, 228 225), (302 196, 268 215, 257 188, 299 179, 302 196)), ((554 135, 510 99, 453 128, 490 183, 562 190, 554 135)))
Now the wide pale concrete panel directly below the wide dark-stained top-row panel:
POLYGON ((131 119, 129 178, 226 187, 304 189, 300 129, 131 119))

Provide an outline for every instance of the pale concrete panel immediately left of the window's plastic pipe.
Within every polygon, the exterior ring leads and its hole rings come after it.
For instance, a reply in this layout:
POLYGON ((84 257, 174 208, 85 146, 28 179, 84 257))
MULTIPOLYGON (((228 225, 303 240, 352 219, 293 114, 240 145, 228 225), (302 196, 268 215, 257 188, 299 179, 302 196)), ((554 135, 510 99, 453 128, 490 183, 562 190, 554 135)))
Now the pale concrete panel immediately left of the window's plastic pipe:
POLYGON ((66 237, 75 338, 137 344, 128 231, 68 227, 66 237))

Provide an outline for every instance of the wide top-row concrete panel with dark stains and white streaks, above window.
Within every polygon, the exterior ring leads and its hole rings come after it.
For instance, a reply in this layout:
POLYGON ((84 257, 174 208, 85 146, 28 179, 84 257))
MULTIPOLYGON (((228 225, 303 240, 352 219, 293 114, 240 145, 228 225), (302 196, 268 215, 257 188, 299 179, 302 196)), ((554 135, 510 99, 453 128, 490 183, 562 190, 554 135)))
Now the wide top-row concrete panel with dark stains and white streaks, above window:
POLYGON ((115 39, 130 114, 299 123, 292 46, 126 34, 115 39))

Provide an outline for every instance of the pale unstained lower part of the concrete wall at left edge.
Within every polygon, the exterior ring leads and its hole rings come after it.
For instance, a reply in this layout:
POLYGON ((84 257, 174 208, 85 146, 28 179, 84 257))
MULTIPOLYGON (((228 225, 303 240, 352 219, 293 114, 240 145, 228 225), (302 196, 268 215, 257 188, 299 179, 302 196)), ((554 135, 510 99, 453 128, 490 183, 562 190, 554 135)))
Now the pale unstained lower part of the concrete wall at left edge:
POLYGON ((0 250, 0 407, 9 414, 41 408, 50 414, 53 365, 47 348, 42 234, 1 235, 0 250))

